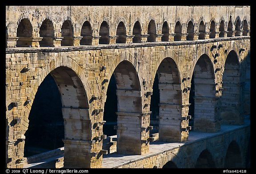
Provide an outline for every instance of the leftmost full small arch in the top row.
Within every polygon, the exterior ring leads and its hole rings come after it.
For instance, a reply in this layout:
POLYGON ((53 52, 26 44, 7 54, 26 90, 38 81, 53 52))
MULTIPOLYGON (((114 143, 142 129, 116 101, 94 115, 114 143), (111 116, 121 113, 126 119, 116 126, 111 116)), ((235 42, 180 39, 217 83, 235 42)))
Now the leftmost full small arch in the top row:
POLYGON ((31 47, 31 37, 32 37, 32 25, 29 19, 21 19, 18 28, 17 28, 17 40, 16 46, 17 47, 31 47))

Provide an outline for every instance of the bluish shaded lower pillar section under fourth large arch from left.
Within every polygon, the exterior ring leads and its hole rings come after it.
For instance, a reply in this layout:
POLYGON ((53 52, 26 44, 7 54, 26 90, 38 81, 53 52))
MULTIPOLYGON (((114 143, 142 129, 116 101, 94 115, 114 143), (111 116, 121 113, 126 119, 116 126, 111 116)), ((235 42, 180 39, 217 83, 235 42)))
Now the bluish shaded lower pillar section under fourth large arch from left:
POLYGON ((215 113, 216 97, 195 96, 194 131, 220 131, 220 119, 215 113))

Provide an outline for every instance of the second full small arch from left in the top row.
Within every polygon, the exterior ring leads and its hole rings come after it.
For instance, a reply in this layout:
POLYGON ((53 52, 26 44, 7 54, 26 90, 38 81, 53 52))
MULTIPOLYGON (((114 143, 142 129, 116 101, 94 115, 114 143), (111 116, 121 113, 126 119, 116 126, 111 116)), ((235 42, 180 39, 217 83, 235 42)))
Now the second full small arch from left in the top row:
POLYGON ((40 46, 54 46, 53 45, 54 28, 51 20, 44 19, 39 29, 39 35, 40 37, 43 37, 43 39, 39 41, 40 46))

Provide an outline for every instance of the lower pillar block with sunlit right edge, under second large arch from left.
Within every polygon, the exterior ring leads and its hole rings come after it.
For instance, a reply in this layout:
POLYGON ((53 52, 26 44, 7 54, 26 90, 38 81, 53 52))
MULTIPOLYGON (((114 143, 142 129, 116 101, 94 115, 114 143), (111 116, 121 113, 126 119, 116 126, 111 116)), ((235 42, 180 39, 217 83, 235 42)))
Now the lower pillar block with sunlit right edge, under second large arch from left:
POLYGON ((150 114, 116 112, 117 152, 120 154, 143 155, 149 152, 150 114))

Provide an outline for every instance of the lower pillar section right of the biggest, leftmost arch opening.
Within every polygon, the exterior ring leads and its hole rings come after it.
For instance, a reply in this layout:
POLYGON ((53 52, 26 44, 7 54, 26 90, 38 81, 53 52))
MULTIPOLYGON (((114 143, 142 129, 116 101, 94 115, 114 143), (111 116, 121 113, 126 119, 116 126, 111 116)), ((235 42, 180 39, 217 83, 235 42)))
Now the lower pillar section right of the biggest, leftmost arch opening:
POLYGON ((62 108, 64 168, 101 167, 100 139, 92 140, 88 109, 62 108))

